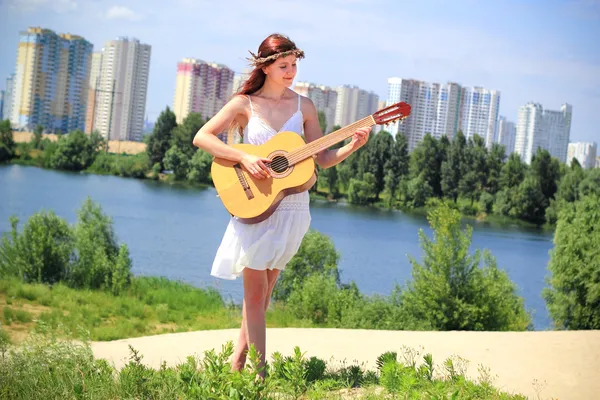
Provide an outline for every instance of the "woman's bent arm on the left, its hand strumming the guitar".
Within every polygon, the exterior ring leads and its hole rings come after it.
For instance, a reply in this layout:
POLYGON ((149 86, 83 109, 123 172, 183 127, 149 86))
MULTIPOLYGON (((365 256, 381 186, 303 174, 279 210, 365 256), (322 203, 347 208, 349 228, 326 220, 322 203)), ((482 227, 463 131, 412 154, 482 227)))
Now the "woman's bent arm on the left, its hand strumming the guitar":
MULTIPOLYGON (((257 179, 270 175, 265 162, 269 160, 248 154, 221 141, 217 135, 226 131, 235 118, 245 116, 248 99, 235 96, 219 112, 200 128, 192 143, 194 146, 210 153, 213 157, 225 158, 240 163, 257 179)), ((239 119, 238 119, 239 121, 239 119)))

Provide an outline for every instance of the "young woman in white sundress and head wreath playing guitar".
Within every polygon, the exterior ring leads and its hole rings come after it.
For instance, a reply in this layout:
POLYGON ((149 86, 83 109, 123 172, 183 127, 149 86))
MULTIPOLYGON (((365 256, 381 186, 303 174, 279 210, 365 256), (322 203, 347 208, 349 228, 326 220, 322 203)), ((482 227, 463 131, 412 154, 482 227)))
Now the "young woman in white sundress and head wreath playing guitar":
MULTIPOLYGON (((262 144, 282 131, 304 132, 307 142, 323 136, 312 101, 289 87, 296 76, 296 60, 304 52, 286 36, 269 35, 255 55, 254 70, 238 93, 196 134, 194 145, 213 156, 242 164, 256 179, 269 177, 268 160, 223 143, 217 134, 235 129, 245 143, 262 144)), ((322 168, 332 167, 363 146, 371 128, 356 131, 347 145, 324 150, 316 157, 322 168)), ((233 355, 233 369, 246 362, 248 344, 254 344, 264 367, 266 352, 265 312, 281 270, 300 247, 310 225, 309 194, 285 197, 277 210, 257 224, 242 224, 233 217, 223 236, 212 265, 211 275, 223 279, 243 277, 242 326, 233 355)), ((264 369, 261 373, 264 377, 264 369)))

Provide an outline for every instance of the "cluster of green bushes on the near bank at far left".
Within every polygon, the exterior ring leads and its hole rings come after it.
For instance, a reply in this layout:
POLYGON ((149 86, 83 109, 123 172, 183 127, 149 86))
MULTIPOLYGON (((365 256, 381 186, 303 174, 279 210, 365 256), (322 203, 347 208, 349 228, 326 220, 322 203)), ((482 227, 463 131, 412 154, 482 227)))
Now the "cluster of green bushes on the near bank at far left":
POLYGON ((2 276, 18 276, 27 283, 65 281, 71 287, 108 288, 115 294, 129 285, 129 251, 117 244, 111 219, 89 198, 74 227, 53 212, 34 214, 21 233, 16 217, 11 225, 0 244, 2 276))

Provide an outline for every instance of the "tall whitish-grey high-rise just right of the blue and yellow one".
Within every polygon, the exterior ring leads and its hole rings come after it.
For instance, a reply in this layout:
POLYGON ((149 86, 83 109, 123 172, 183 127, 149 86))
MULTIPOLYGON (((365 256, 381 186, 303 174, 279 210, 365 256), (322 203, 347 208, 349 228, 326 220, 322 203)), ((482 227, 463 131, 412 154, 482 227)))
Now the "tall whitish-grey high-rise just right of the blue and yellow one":
POLYGON ((142 140, 151 53, 149 44, 127 37, 102 49, 93 128, 108 140, 142 140))

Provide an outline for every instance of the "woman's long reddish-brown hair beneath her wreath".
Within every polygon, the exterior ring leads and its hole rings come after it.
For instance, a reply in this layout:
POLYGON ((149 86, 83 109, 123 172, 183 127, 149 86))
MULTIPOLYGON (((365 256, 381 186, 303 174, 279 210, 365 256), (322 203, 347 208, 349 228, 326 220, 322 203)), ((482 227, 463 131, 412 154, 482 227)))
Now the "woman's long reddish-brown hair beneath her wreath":
MULTIPOLYGON (((275 54, 285 53, 294 50, 297 50, 300 53, 302 53, 289 37, 280 33, 272 33, 269 36, 267 36, 265 40, 262 41, 260 46, 258 46, 258 53, 250 53, 253 56, 253 58, 250 59, 250 61, 254 65, 254 69, 252 70, 252 72, 250 72, 250 76, 248 77, 248 79, 242 84, 242 86, 233 95, 233 97, 237 95, 251 95, 253 93, 256 93, 265 84, 267 76, 264 73, 263 68, 273 64, 276 58, 271 58, 266 61, 260 61, 261 59, 273 56, 275 54)), ((304 57, 303 53, 298 58, 302 57, 304 57)), ((233 138, 233 132, 235 131, 237 131, 241 136, 243 128, 234 119, 231 122, 231 126, 228 130, 228 142, 230 139, 233 138)))

